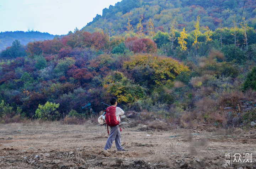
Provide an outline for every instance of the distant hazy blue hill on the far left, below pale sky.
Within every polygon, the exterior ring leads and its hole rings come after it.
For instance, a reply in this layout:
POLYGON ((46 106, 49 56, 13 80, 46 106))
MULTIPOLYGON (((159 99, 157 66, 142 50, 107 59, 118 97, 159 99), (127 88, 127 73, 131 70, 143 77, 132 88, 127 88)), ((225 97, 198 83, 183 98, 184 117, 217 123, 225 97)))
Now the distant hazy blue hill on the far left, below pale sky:
POLYGON ((54 35, 49 33, 41 33, 41 32, 23 32, 23 31, 15 31, 15 32, 1 32, 0 33, 0 51, 5 50, 6 47, 12 45, 12 42, 15 40, 20 41, 22 45, 27 45, 27 43, 31 41, 38 40, 52 40, 54 35))

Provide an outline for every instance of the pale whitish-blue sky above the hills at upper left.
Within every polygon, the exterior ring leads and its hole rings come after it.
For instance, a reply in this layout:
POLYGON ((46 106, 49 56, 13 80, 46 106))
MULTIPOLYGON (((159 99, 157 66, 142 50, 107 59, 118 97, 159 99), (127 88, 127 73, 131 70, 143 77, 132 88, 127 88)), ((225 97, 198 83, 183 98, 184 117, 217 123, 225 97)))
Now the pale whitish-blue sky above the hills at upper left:
POLYGON ((0 32, 28 29, 53 35, 79 30, 121 0, 0 0, 0 32))

